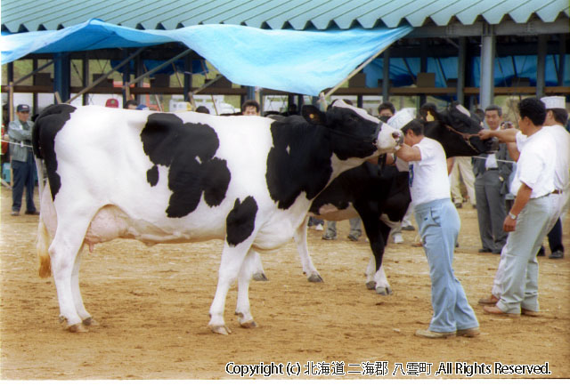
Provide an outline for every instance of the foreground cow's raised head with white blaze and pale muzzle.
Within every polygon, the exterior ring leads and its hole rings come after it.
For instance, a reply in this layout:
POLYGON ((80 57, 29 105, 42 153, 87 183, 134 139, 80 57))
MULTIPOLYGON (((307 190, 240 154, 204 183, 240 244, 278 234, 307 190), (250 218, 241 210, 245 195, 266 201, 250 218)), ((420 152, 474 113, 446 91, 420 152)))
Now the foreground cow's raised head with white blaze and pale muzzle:
POLYGON ((334 101, 326 113, 311 105, 303 106, 302 113, 309 123, 326 128, 339 159, 377 157, 394 151, 403 141, 399 130, 342 100, 334 101))

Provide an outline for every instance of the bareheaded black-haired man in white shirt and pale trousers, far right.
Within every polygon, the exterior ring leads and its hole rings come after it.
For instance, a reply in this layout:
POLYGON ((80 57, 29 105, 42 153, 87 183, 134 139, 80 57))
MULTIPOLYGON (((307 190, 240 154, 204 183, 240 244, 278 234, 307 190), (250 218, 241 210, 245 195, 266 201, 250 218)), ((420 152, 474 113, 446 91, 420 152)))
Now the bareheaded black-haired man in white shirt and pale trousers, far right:
MULTIPOLYGON (((544 103, 536 98, 526 98, 518 103, 518 110, 518 126, 522 133, 516 134, 519 156, 511 152, 511 157, 517 159, 517 172, 510 187, 516 198, 503 223, 509 237, 495 276, 498 287, 496 293, 493 290, 495 299, 490 299, 498 302, 484 307, 485 313, 510 317, 538 315, 536 254, 557 209, 552 194, 555 191, 557 147, 548 130, 542 128, 546 117, 544 103)), ((512 131, 484 131, 480 136, 513 140, 512 131)))

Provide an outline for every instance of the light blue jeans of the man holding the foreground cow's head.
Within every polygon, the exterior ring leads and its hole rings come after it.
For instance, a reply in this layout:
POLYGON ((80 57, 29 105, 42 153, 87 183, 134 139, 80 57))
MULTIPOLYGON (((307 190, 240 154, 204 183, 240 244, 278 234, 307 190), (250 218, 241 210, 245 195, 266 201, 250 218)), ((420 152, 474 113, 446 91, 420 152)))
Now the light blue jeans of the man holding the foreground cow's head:
POLYGON ((460 216, 450 198, 415 206, 419 235, 428 257, 431 304, 429 330, 451 333, 479 326, 460 281, 452 269, 460 216))

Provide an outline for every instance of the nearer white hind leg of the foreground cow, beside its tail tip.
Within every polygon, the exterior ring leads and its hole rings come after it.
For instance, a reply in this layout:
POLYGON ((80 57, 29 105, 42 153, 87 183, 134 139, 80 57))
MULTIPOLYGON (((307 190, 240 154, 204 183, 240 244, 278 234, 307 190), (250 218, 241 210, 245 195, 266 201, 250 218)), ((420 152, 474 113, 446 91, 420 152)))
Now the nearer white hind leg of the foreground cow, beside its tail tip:
POLYGON ((75 281, 78 287, 78 268, 77 277, 72 278, 84 234, 85 231, 77 234, 71 229, 67 231, 58 229, 49 249, 52 258, 53 281, 60 303, 60 320, 61 322, 67 321, 67 328, 73 333, 86 331, 82 325, 82 318, 77 314, 76 296, 74 296, 75 281))

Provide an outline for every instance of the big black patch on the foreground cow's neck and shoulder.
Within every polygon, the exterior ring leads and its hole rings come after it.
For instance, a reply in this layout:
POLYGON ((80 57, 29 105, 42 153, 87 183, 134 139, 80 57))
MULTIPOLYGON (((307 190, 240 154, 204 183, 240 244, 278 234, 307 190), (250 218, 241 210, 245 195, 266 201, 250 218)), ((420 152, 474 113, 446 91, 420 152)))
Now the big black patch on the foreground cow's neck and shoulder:
POLYGON ((273 201, 288 209, 303 192, 316 197, 332 173, 330 133, 295 116, 273 122, 271 133, 265 180, 273 201))

